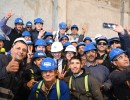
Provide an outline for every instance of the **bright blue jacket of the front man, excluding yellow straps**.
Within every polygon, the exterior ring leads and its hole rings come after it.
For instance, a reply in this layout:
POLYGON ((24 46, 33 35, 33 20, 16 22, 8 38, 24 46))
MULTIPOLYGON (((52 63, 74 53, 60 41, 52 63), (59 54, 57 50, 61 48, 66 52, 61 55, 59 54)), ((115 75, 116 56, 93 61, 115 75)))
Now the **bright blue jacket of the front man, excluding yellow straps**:
MULTIPOLYGON (((39 83, 36 83, 29 95, 28 100, 58 100, 58 94, 56 91, 56 82, 52 85, 49 93, 46 92, 44 82, 42 83, 38 97, 36 98, 36 90, 39 83)), ((70 100, 70 92, 67 84, 60 80, 60 100, 70 100)))

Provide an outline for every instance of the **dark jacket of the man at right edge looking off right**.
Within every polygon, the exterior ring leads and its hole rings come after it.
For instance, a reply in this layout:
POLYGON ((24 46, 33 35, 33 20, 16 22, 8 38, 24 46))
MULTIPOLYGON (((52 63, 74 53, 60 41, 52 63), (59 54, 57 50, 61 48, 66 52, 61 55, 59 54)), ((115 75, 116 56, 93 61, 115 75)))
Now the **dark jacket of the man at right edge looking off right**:
POLYGON ((110 74, 114 95, 118 100, 130 99, 130 66, 125 70, 116 69, 110 74))

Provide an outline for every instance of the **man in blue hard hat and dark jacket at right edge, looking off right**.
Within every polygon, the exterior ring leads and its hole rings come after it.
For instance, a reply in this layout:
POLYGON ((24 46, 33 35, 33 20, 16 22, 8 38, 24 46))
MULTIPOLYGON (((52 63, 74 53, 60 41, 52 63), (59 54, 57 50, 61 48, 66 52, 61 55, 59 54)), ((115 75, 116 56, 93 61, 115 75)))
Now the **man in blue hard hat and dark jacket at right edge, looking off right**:
POLYGON ((110 52, 110 60, 116 70, 110 74, 114 95, 118 100, 130 100, 130 61, 125 51, 114 48, 110 52))

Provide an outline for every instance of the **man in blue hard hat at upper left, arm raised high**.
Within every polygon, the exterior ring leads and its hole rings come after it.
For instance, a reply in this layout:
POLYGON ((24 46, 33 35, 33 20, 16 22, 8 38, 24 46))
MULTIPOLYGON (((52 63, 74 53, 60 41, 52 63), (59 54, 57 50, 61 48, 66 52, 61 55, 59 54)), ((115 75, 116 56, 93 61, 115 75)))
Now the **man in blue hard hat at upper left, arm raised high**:
POLYGON ((8 35, 10 41, 5 40, 4 48, 6 51, 9 51, 12 47, 12 44, 16 38, 22 36, 23 32, 23 20, 21 18, 16 18, 14 21, 15 27, 12 29, 11 27, 7 26, 6 23, 8 19, 13 16, 13 12, 8 12, 4 18, 0 21, 0 28, 1 30, 8 35))

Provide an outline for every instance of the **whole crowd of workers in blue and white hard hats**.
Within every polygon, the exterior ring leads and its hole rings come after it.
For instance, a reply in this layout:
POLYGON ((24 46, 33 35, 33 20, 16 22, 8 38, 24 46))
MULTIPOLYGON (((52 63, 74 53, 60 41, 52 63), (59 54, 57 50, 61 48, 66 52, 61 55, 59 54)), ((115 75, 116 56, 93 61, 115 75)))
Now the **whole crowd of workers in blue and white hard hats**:
POLYGON ((115 24, 118 37, 93 41, 75 24, 45 31, 41 18, 11 28, 11 16, 0 21, 0 100, 130 100, 128 29, 115 24))

